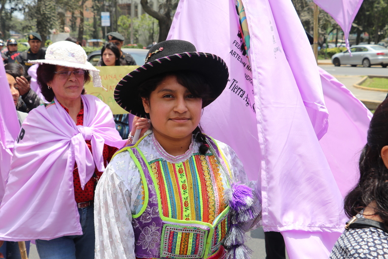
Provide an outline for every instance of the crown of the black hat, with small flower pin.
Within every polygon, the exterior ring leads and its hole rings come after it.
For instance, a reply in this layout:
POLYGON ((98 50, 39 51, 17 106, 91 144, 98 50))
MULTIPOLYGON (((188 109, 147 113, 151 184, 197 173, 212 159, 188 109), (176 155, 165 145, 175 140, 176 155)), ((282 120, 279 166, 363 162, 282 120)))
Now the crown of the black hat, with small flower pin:
POLYGON ((185 52, 196 52, 195 46, 188 41, 180 39, 170 39, 153 45, 147 53, 148 60, 146 63, 185 52))

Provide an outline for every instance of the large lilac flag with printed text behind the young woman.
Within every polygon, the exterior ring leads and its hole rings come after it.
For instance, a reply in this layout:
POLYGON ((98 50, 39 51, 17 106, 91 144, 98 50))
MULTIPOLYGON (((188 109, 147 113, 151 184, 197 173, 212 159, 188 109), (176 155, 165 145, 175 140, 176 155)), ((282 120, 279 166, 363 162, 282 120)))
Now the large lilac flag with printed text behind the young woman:
POLYGON ((181 0, 169 38, 191 41, 229 67, 230 81, 201 123, 259 181, 265 231, 287 231, 328 258, 345 221, 343 200, 319 143, 328 112, 292 2, 181 0))

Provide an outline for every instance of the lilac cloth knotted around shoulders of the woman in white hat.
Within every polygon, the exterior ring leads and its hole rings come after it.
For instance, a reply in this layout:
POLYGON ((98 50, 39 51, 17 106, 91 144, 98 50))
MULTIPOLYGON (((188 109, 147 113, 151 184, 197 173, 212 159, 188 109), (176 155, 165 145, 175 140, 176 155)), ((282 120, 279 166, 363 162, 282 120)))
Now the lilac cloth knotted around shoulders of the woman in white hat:
POLYGON ((76 126, 55 99, 33 109, 15 143, 5 195, 0 206, 0 240, 22 241, 81 235, 74 198, 73 169, 81 186, 103 171, 104 144, 121 148, 112 112, 100 99, 82 96, 84 126, 76 126), (92 153, 85 142, 91 141, 92 153))

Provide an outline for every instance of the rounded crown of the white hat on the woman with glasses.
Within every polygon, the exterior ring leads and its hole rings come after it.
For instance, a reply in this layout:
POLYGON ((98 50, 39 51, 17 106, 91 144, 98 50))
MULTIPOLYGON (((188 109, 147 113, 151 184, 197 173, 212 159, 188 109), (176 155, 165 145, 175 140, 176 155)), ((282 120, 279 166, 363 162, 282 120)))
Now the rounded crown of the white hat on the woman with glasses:
POLYGON ((84 49, 70 41, 58 41, 51 44, 46 50, 46 60, 86 64, 87 55, 84 49))

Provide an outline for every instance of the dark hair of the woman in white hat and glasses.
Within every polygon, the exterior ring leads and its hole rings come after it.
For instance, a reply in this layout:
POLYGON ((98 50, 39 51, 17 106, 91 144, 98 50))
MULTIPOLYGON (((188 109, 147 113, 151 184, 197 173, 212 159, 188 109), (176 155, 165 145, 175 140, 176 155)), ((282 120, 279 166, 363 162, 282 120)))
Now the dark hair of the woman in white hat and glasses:
MULTIPOLYGON (((39 84, 40 91, 46 100, 52 101, 55 97, 53 89, 49 89, 47 83, 54 79, 54 75, 57 71, 56 65, 40 64, 36 69, 36 81, 39 84)), ((85 70, 84 84, 90 81, 89 70, 85 70)), ((81 95, 85 94, 85 89, 82 90, 81 95)))

